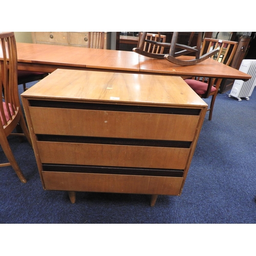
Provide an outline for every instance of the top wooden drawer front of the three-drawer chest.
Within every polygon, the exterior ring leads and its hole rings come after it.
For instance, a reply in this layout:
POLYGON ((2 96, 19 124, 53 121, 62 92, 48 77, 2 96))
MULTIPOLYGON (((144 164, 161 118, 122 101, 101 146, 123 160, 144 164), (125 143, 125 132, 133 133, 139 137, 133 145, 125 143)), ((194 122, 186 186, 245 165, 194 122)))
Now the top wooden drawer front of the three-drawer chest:
POLYGON ((193 141, 199 115, 30 106, 35 134, 193 141), (46 125, 42 125, 45 123, 46 125))

